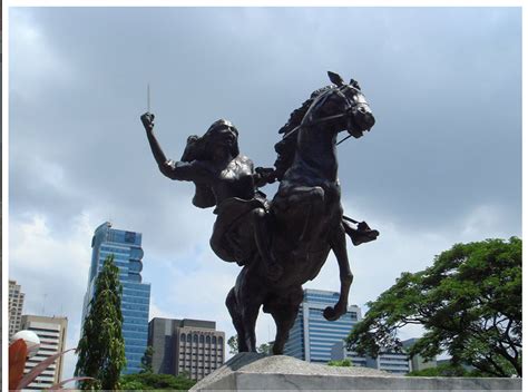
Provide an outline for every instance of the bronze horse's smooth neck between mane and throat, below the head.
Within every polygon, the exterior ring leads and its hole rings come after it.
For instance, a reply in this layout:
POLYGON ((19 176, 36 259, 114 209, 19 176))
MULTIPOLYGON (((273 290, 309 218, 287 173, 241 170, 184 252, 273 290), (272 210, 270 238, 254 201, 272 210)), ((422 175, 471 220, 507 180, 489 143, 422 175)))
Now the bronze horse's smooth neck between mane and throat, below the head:
POLYGON ((302 129, 293 161, 294 169, 309 170, 316 177, 335 182, 338 179, 336 134, 323 125, 302 129))

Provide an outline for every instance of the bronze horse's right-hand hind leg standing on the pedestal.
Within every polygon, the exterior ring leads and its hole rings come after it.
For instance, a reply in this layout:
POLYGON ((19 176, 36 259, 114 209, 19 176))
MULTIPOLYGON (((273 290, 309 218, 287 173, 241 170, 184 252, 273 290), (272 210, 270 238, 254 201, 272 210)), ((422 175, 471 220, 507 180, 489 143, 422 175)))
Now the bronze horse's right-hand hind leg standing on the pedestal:
POLYGON ((295 323, 303 295, 303 290, 299 286, 290 292, 286 297, 277 297, 266 304, 266 311, 272 314, 277 330, 275 343, 273 344, 274 355, 280 355, 284 352, 284 344, 286 344, 290 330, 295 323))

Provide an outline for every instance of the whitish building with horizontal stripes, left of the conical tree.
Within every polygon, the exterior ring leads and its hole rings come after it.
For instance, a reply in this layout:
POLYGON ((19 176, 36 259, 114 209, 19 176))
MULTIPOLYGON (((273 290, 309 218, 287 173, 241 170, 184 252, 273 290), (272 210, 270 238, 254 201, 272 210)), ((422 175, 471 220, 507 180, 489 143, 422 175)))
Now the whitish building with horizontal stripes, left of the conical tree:
MULTIPOLYGON (((35 332, 40 340, 39 351, 26 362, 25 374, 28 374, 35 366, 49 356, 65 351, 67 327, 68 318, 66 317, 22 316, 21 329, 35 332)), ((63 357, 59 356, 26 389, 41 391, 60 382, 62 379, 62 361, 63 357)))

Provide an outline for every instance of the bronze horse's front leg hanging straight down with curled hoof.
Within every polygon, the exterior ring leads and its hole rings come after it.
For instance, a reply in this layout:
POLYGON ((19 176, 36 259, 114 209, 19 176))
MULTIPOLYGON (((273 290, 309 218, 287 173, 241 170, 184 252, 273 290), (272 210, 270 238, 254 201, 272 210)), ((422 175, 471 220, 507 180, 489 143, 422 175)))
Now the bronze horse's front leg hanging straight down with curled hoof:
POLYGON ((323 315, 324 318, 329 321, 335 321, 346 313, 350 285, 354 278, 352 272, 350 271, 349 254, 346 253, 346 236, 342 224, 340 224, 339 228, 331 234, 330 246, 332 247, 335 258, 338 259, 341 291, 338 303, 334 305, 334 307, 326 307, 323 315))

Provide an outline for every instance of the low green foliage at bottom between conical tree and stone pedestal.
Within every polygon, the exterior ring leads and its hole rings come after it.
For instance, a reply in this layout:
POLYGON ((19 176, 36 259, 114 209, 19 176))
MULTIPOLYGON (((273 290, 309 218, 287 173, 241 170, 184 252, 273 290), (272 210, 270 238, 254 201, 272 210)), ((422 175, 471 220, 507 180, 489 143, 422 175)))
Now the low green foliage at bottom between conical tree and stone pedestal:
POLYGON ((185 375, 137 373, 123 375, 120 380, 123 390, 174 390, 187 391, 196 381, 185 375))

